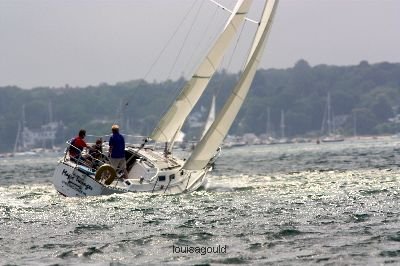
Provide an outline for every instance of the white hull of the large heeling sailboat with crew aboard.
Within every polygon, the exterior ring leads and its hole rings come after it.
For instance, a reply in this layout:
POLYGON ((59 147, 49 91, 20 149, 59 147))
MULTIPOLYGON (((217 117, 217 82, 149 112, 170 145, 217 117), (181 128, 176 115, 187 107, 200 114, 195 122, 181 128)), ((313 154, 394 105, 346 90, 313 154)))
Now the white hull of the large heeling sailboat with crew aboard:
MULTIPOLYGON (((155 153, 149 150, 128 149, 127 152, 135 151, 132 156, 162 156, 162 153, 155 153)), ((162 157, 159 157, 160 159, 162 157)), ((110 185, 96 181, 96 172, 88 167, 62 159, 53 175, 53 184, 56 190, 67 197, 100 196, 128 192, 147 192, 156 194, 180 194, 192 192, 199 189, 206 183, 206 176, 211 169, 183 170, 181 166, 166 168, 162 164, 172 165, 176 158, 164 158, 165 161, 148 163, 146 160, 137 160, 130 168, 128 179, 115 179, 110 185), (156 167, 149 167, 154 165, 156 167), (146 173, 149 175, 146 176, 146 173), (154 174, 155 173, 155 174, 154 174), (154 174, 154 175, 153 175, 154 174), (141 180, 142 179, 142 180, 141 180)), ((176 165, 174 165, 176 166, 176 165)))

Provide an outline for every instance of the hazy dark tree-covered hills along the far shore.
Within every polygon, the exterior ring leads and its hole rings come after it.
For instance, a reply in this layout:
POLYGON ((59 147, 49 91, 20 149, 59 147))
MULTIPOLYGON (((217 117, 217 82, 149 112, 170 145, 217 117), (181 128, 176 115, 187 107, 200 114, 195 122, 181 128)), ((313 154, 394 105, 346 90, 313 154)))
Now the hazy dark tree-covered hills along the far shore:
MULTIPOLYGON (((218 72, 193 112, 205 116, 213 94, 217 98, 216 109, 220 110, 237 79, 238 74, 218 72)), ((80 128, 93 135, 107 134, 113 123, 120 123, 122 131, 128 134, 149 135, 185 82, 181 78, 164 82, 103 83, 85 88, 0 87, 3 140, 0 152, 12 150, 23 110, 28 128, 40 128, 50 120, 62 121, 64 128, 58 132, 56 144, 64 143, 80 128)), ((341 134, 378 135, 399 131, 396 122, 400 113, 399 63, 362 61, 354 66, 311 67, 300 60, 292 68, 257 72, 230 134, 265 133, 268 113, 270 124, 278 131, 283 112, 287 136, 316 137, 321 131, 328 93, 341 134)), ((189 127, 187 123, 183 131, 191 132, 189 127)), ((189 133, 189 137, 191 134, 194 133, 189 133)))

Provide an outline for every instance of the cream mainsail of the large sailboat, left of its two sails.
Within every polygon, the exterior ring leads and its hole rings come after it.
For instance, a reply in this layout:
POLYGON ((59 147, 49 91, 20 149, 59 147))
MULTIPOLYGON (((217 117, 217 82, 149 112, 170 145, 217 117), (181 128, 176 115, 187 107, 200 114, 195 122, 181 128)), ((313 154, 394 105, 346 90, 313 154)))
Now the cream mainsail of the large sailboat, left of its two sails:
POLYGON ((170 142, 186 120, 200 96, 203 94, 212 75, 220 65, 223 55, 240 29, 250 8, 251 0, 239 0, 228 19, 224 30, 214 43, 191 80, 186 84, 175 102, 164 114, 150 138, 155 141, 170 142))

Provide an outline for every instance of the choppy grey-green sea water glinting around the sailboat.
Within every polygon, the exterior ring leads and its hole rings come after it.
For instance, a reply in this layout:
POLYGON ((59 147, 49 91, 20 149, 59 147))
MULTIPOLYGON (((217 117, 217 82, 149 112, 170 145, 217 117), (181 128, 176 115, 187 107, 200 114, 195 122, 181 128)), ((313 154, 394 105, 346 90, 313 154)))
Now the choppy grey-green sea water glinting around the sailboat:
POLYGON ((0 159, 0 265, 400 264, 400 139, 224 149, 181 195, 65 198, 0 159))

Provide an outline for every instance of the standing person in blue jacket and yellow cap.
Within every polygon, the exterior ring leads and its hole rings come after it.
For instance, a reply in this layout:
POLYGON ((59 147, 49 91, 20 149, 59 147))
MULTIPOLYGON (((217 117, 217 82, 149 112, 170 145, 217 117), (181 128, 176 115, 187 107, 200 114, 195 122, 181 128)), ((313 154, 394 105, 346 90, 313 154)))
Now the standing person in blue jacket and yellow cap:
POLYGON ((113 125, 111 127, 112 136, 108 145, 110 146, 110 163, 115 170, 124 170, 124 178, 128 178, 128 171, 126 170, 125 160, 125 140, 124 137, 119 134, 119 126, 113 125))

